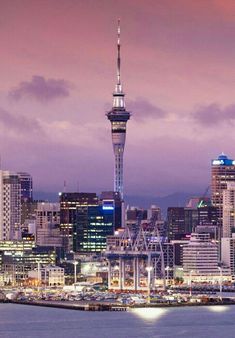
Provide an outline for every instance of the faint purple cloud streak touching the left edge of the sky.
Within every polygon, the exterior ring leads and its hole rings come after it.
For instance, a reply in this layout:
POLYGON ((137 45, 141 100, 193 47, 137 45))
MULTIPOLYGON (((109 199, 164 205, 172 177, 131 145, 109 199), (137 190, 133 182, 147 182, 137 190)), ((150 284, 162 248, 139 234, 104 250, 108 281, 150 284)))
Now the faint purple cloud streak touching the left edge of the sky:
POLYGON ((24 115, 14 115, 2 108, 0 108, 0 124, 8 130, 16 131, 20 134, 43 132, 40 123, 36 119, 28 118, 24 115))

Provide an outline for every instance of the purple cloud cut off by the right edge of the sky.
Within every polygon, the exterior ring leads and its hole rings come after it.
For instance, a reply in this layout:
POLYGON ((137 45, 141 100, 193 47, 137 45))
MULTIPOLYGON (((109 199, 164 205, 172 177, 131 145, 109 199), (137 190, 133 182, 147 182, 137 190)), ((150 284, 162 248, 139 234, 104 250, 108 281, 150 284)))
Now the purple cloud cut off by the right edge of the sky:
POLYGON ((192 113, 192 117, 200 124, 208 127, 223 122, 233 122, 233 120, 235 120, 235 104, 224 108, 216 103, 212 103, 208 106, 201 106, 192 113))

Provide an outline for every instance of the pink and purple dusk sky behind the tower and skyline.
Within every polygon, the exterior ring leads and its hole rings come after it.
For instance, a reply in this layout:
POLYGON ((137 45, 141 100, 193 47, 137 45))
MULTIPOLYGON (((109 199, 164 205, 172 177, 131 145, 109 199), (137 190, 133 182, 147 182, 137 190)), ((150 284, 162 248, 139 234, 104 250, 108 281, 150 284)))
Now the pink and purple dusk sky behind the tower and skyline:
POLYGON ((11 0, 0 9, 0 152, 36 190, 113 188, 121 18, 125 192, 202 192, 235 157, 234 0, 11 0))

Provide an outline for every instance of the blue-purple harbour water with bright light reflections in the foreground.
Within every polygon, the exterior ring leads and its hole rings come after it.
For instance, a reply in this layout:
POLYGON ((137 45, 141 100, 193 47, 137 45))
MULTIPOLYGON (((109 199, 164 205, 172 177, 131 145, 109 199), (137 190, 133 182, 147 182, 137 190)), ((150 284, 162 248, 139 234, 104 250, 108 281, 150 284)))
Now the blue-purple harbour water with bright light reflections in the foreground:
POLYGON ((234 338, 235 306, 85 312, 0 304, 2 338, 234 338))

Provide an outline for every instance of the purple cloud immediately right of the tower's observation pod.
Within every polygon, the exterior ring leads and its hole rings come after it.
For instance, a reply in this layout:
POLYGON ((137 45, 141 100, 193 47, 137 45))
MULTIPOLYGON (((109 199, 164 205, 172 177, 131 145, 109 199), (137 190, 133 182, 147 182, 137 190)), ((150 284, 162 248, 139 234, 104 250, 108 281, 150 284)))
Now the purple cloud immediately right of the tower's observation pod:
POLYGON ((154 106, 144 98, 136 98, 127 101, 127 110, 130 110, 136 120, 145 120, 147 118, 160 119, 168 115, 163 109, 154 106))

